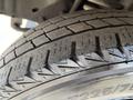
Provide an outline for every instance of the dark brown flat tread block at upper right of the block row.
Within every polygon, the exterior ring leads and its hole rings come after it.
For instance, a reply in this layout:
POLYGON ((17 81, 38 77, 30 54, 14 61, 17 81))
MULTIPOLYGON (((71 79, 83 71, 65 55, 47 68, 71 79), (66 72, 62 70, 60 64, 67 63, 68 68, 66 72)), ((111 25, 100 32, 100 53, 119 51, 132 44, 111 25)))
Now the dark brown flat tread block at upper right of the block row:
POLYGON ((117 26, 117 24, 126 24, 123 21, 117 20, 116 18, 108 18, 108 19, 102 19, 103 21, 112 24, 112 26, 117 26))

